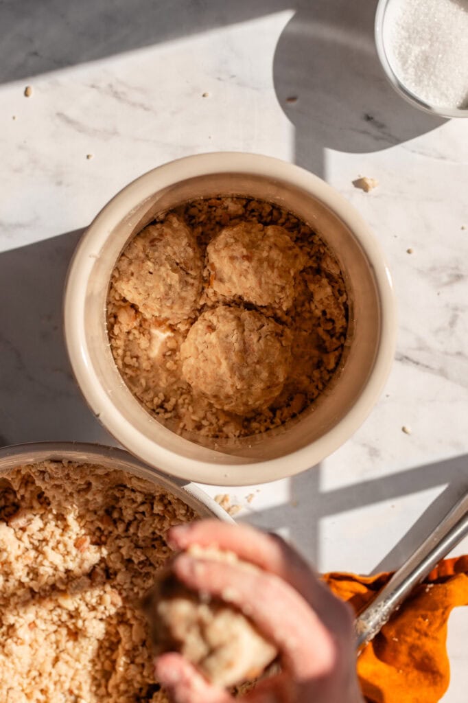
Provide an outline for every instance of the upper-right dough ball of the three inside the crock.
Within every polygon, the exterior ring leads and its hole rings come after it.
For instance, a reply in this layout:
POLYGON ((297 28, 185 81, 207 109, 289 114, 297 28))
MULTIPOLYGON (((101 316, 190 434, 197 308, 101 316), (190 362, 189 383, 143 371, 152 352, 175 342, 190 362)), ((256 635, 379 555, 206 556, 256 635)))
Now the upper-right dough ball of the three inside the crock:
POLYGON ((213 290, 259 306, 289 309, 304 264, 304 255, 287 231, 276 225, 241 222, 223 229, 207 247, 213 290))

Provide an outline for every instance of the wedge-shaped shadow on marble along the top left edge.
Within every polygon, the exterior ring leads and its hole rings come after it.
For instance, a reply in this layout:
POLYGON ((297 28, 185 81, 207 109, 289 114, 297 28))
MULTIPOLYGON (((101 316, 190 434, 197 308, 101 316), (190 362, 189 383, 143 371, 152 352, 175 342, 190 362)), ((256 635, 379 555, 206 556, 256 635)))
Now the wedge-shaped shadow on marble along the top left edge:
POLYGON ((141 49, 291 7, 294 2, 290 4, 287 0, 2 2, 0 81, 18 80, 141 49))

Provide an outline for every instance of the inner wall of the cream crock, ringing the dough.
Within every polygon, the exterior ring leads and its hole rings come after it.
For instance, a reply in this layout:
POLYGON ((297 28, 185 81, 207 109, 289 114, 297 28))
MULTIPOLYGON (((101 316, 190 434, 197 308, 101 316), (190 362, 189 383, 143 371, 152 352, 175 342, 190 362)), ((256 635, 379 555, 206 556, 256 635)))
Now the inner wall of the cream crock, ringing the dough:
MULTIPOLYGON (((98 226, 98 219, 91 225, 98 226)), ((126 422, 164 449, 204 463, 255 463, 279 458, 322 437, 349 413, 374 365, 381 335, 380 304, 375 276, 358 239, 323 202, 291 183, 245 173, 197 176, 145 198, 105 238, 93 254, 84 304, 89 363, 126 422), (112 359, 105 322, 110 274, 126 243, 155 214, 193 198, 241 195, 274 202, 297 214, 327 243, 344 273, 349 294, 349 334, 342 363, 319 399, 283 427, 242 439, 180 437, 161 425, 134 398, 112 359), (215 449, 216 444, 216 449, 215 449)), ((96 411, 96 408, 93 408, 96 411)), ((106 418, 100 417, 103 424, 106 418)), ((113 432, 112 427, 108 429, 113 432)), ((116 434, 117 436, 117 434, 116 434)), ((119 439, 119 437, 117 437, 119 439)))

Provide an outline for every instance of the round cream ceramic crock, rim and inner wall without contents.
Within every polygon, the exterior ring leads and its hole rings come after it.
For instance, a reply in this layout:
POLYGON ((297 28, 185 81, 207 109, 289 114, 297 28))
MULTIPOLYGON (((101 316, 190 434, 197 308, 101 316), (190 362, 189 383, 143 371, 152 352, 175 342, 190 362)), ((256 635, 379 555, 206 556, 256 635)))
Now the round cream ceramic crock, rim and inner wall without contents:
POLYGON ((396 309, 382 251, 337 191, 292 164, 211 153, 162 165, 126 186, 98 214, 74 254, 65 290, 65 337, 74 374, 100 422, 131 453, 172 476, 259 484, 316 465, 349 439, 377 401, 394 357, 396 309), (349 334, 339 372, 287 425, 242 439, 180 437, 146 411, 115 366, 105 323, 110 274, 129 239, 155 214, 193 198, 241 195, 290 209, 320 233, 342 267, 349 334))

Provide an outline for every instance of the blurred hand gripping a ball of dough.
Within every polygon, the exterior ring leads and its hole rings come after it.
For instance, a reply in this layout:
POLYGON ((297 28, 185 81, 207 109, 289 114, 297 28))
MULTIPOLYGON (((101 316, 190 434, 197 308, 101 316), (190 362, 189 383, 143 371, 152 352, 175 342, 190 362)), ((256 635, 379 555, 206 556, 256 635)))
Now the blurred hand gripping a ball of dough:
MULTIPOLYGON (((181 553, 173 570, 195 591, 230 602, 278 647, 282 671, 260 681, 245 703, 363 703, 356 677, 351 608, 318 581, 306 562, 281 538, 245 525, 204 520, 169 531, 174 550, 216 546, 258 566, 181 553)), ((156 673, 174 703, 234 703, 180 654, 156 661, 156 673)))

